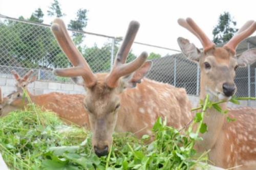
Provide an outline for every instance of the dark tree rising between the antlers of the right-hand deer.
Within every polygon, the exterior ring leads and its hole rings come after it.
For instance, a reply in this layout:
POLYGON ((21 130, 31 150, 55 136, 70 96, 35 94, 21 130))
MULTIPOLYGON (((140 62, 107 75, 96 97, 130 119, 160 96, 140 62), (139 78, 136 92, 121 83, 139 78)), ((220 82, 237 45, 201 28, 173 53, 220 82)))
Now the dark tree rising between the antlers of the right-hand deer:
POLYGON ((238 29, 235 28, 236 25, 237 22, 233 20, 229 12, 221 14, 217 26, 212 31, 212 34, 214 35, 214 43, 228 42, 238 31, 238 29))

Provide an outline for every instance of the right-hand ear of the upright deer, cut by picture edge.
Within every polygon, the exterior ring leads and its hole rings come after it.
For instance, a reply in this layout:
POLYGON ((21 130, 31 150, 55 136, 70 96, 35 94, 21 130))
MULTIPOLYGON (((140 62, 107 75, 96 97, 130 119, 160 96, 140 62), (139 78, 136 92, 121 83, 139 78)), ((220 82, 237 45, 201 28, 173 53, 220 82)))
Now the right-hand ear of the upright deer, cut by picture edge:
POLYGON ((238 56, 237 62, 240 67, 248 66, 256 61, 256 48, 251 48, 238 56))

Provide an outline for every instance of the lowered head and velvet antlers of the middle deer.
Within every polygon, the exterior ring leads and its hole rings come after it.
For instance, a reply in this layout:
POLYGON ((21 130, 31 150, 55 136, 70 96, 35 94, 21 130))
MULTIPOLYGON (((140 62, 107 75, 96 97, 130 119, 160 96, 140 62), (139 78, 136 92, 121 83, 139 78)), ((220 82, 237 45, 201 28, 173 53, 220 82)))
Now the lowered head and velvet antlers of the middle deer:
POLYGON ((112 144, 112 134, 116 126, 118 110, 122 107, 120 106, 119 94, 125 88, 132 88, 140 83, 152 65, 150 61, 145 62, 147 58, 145 52, 131 63, 125 64, 139 29, 139 23, 131 21, 117 53, 113 69, 109 74, 93 74, 90 66, 72 42, 61 19, 55 19, 51 29, 62 51, 74 66, 55 69, 54 74, 61 77, 82 77, 82 81, 73 80, 77 84, 83 84, 87 91, 83 103, 89 113, 90 126, 93 132, 92 145, 98 156, 107 155, 112 144))

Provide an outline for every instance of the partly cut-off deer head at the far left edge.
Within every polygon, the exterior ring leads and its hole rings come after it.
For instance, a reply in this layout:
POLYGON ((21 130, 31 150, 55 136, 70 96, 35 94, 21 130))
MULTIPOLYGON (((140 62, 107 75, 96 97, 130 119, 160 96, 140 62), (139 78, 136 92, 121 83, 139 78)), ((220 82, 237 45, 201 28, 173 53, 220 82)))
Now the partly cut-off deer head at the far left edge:
POLYGON ((0 88, 0 117, 5 116, 9 112, 16 110, 15 107, 11 106, 11 103, 21 98, 22 94, 16 91, 7 95, 5 98, 2 98, 2 90, 0 88))

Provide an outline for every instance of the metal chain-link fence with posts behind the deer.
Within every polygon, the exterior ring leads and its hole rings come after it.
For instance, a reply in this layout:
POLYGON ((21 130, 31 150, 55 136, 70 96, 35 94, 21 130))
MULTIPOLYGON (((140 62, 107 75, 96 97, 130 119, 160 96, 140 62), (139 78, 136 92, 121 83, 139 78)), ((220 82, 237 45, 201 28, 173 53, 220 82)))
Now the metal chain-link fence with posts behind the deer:
MULTIPOLYGON (((69 34, 95 73, 110 71, 120 39, 74 30, 69 34)), ((139 42, 133 44, 127 60, 135 59, 142 51, 149 52, 149 58, 154 61, 148 78, 184 87, 188 94, 199 94, 200 69, 196 63, 179 51, 139 42)), ((49 25, 0 16, 0 77, 12 77, 12 69, 20 75, 33 69, 39 80, 70 82, 52 74, 54 68, 69 66, 49 25)), ((252 65, 249 69, 237 69, 238 96, 255 96, 254 68, 252 65)))

